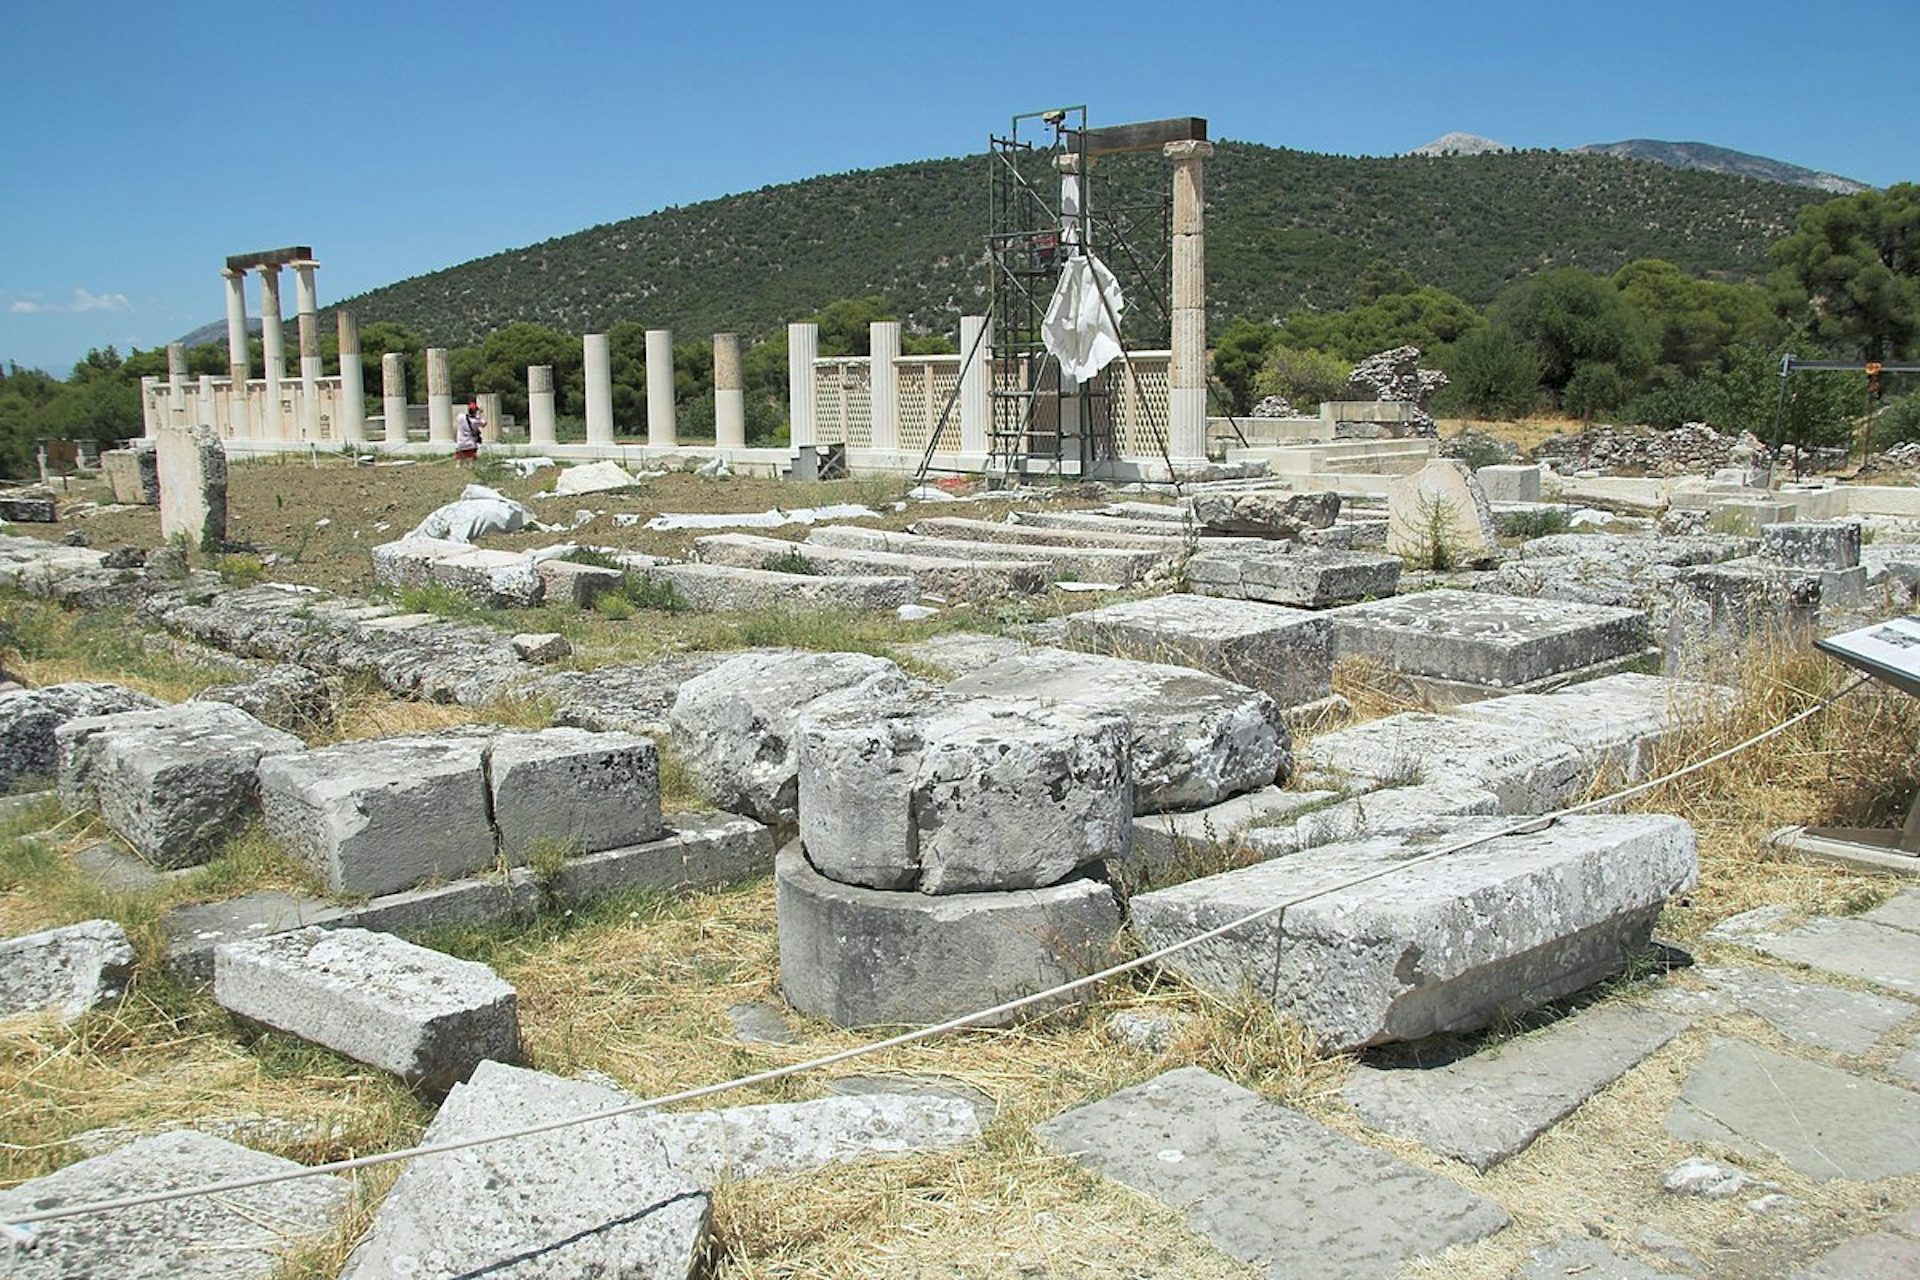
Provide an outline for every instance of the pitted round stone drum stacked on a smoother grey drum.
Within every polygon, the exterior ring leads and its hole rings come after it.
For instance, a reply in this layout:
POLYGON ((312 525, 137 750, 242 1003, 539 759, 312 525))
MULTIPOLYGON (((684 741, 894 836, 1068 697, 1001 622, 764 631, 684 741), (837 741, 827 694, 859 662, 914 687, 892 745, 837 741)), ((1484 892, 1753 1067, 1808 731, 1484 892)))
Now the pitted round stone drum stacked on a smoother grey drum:
POLYGON ((799 725, 801 841, 822 875, 966 894, 1056 885, 1133 837, 1127 722, 1073 706, 849 706, 799 725))

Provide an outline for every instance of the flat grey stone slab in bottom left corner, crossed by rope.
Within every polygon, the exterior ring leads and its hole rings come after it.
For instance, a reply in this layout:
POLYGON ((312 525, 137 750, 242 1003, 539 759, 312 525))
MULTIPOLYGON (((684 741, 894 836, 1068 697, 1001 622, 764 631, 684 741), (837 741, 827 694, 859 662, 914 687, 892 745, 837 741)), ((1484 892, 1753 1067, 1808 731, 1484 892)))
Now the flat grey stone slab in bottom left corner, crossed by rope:
MULTIPOLYGON (((209 1134, 157 1134, 0 1192, 0 1221, 298 1167, 209 1134)), ((271 1280, 290 1249, 334 1228, 349 1192, 346 1178, 313 1176, 46 1222, 33 1249, 12 1253, 8 1278, 271 1280)))

